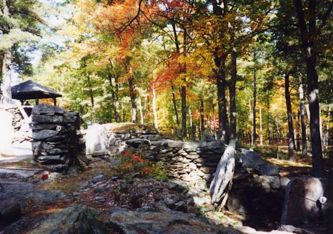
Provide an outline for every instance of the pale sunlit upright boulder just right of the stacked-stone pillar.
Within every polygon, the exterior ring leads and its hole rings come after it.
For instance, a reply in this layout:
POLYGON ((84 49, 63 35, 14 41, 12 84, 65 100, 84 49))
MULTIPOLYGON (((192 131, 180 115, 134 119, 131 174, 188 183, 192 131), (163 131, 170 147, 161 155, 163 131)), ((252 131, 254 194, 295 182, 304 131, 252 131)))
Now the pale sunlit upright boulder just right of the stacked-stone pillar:
POLYGON ((93 124, 87 130, 85 139, 87 155, 108 154, 109 143, 106 127, 100 124, 93 124))

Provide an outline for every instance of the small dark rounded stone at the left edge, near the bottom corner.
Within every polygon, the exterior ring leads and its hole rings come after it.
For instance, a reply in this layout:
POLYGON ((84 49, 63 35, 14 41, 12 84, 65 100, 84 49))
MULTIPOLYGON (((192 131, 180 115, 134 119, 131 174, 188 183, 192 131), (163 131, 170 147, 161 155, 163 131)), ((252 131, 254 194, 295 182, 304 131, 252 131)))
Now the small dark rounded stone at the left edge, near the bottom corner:
POLYGON ((5 200, 0 202, 0 219, 7 222, 17 220, 21 216, 21 208, 17 201, 5 200))

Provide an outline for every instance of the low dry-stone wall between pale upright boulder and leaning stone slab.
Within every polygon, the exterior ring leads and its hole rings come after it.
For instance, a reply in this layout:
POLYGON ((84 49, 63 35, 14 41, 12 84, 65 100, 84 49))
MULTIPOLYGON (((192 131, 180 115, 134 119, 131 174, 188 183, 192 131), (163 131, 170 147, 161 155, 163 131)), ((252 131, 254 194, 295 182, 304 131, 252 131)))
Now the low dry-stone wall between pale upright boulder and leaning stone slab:
POLYGON ((110 150, 120 152, 129 147, 144 151, 146 159, 165 162, 170 176, 184 182, 209 187, 212 174, 224 152, 220 141, 181 142, 163 139, 157 131, 109 133, 110 150))

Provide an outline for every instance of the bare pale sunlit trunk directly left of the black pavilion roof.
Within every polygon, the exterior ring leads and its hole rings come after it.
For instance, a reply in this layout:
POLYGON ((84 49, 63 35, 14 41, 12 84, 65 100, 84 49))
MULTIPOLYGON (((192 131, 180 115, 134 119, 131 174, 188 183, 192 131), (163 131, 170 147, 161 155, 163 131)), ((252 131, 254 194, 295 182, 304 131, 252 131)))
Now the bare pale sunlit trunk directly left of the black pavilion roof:
MULTIPOLYGON (((6 8, 6 7, 5 7, 6 8)), ((8 48, 4 51, 2 75, 3 80, 1 83, 1 90, 3 91, 4 104, 12 103, 12 90, 11 90, 11 63, 12 63, 12 51, 8 48)))

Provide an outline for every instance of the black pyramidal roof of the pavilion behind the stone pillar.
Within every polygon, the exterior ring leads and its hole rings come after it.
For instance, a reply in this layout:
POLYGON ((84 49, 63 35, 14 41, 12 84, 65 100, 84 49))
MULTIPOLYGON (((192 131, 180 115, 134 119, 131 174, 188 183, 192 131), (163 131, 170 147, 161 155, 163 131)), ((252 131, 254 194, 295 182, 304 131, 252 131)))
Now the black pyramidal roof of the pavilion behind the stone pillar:
MULTIPOLYGON (((14 85, 12 89, 12 98, 17 100, 45 99, 63 97, 60 93, 53 91, 35 81, 28 80, 14 85)), ((0 91, 2 94, 2 91, 0 91)))

